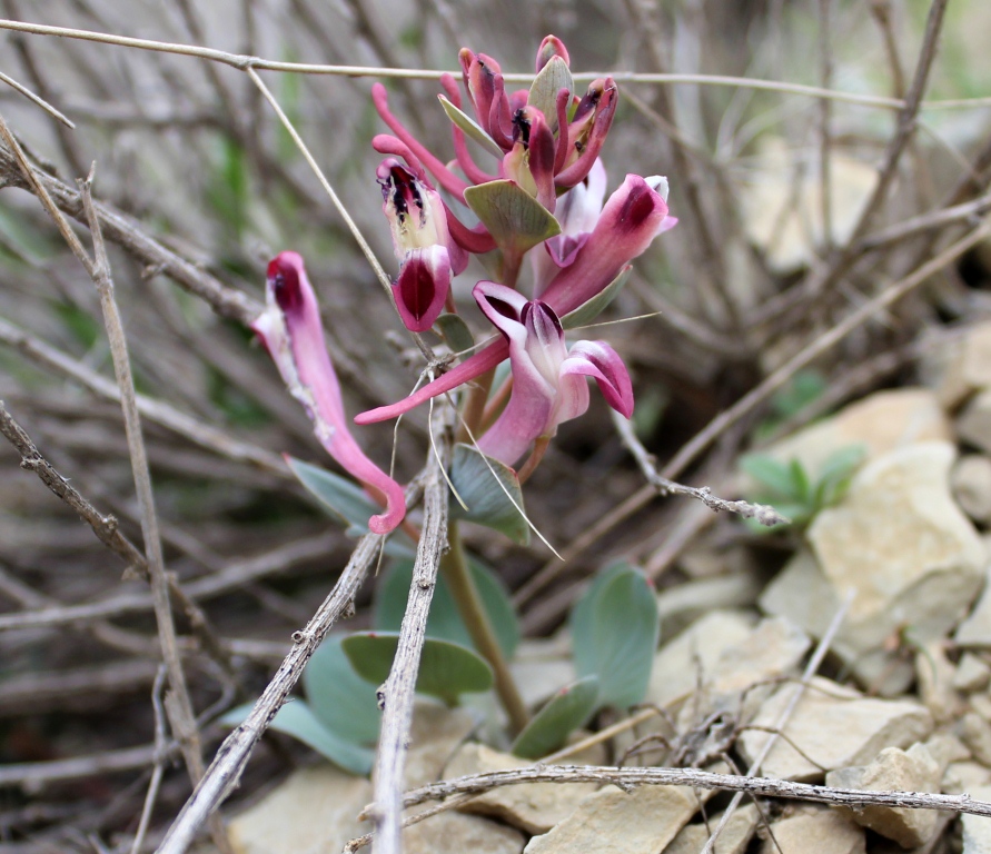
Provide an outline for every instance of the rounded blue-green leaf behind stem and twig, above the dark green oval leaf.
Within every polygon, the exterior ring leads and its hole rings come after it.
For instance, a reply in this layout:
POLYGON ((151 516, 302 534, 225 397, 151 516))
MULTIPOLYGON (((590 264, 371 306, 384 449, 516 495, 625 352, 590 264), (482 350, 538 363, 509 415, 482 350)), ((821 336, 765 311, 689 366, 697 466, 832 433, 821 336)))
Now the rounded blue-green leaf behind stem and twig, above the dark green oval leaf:
MULTIPOLYGON (((499 648, 506 658, 512 658, 519 644, 519 623, 516 619, 513 600, 503 580, 485 564, 469 555, 468 566, 499 648)), ((377 630, 399 630, 412 582, 413 560, 396 560, 381 578, 375 592, 373 624, 377 630)), ((437 586, 434 588, 434 600, 430 603, 430 616, 427 619, 427 636, 450 640, 469 648, 475 646, 443 575, 437 578, 437 586)))

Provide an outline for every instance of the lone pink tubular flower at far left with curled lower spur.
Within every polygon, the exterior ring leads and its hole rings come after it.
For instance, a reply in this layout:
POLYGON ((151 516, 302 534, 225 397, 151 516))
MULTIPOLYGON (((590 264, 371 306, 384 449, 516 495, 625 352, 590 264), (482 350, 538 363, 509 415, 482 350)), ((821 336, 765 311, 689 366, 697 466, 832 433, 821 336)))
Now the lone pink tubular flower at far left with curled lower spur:
POLYGON ((340 385, 327 348, 324 326, 303 258, 280 252, 268 265, 266 309, 251 324, 264 341, 289 393, 306 408, 314 433, 334 459, 381 505, 369 530, 387 534, 406 515, 403 488, 358 447, 344 414, 340 385))

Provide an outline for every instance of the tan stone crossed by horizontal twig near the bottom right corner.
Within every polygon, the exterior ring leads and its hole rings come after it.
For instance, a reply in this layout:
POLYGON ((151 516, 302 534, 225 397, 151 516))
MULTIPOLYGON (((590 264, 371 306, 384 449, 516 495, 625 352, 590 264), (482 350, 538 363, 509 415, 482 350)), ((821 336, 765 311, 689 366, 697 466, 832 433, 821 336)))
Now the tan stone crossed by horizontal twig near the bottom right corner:
MULTIPOLYGON (((914 744, 908 751, 885 747, 869 765, 830 772, 826 785, 861 792, 939 792, 941 777, 940 766, 925 746, 914 744)), ((861 826, 894 840, 903 848, 929 842, 937 830, 934 810, 864 806, 840 807, 840 812, 861 826)))

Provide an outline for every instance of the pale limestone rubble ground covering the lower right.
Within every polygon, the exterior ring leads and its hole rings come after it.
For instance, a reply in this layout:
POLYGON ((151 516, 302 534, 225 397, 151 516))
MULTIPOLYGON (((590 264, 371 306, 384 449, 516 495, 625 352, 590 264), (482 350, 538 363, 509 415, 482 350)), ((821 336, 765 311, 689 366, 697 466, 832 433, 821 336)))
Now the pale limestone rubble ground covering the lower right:
MULTIPOLYGON (((865 454, 846 495, 794 538, 794 553, 770 582, 750 543, 684 562, 697 577, 657 597, 666 637, 647 719, 641 713, 636 726, 608 741, 586 737, 577 755, 558 761, 674 758, 725 771, 763 756, 760 773, 784 781, 991 798, 991 538, 982 533, 991 523, 991 324, 934 351, 923 373, 928 386, 878 391, 769 449, 811 471, 842 447, 860 445, 865 454), (816 644, 829 653, 802 689, 816 644), (801 698, 781 726, 796 692, 801 698)), ((741 485, 744 494, 755 488, 741 485)), ((562 635, 558 649, 566 644, 562 635)), ((553 649, 532 644, 533 661, 521 665, 526 684, 559 681, 567 658, 553 649)), ((417 715, 410 788, 525 764, 472 741, 465 712, 420 705, 417 715)), ((296 772, 231 820, 236 847, 338 851, 367 832, 356 815, 370 794, 367 781, 330 766, 296 772)), ((686 787, 627 794, 587 783, 516 785, 415 825, 406 845, 690 854, 703 850, 726 802, 686 787)), ((961 845, 964 854, 991 851, 991 821, 762 800, 732 812, 714 850, 880 854, 961 845)))

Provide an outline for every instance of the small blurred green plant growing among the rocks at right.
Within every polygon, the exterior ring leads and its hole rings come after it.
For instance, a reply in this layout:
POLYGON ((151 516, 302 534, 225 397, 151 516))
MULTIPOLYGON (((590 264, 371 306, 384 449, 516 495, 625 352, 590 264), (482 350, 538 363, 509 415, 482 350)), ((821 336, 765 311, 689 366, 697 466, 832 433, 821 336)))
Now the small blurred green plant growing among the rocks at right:
MULTIPOLYGON (((800 460, 783 461, 770 454, 749 454, 740 460, 740 468, 760 485, 759 502, 773 505, 794 526, 805 528, 820 510, 843 498, 865 456, 861 445, 839 448, 826 458, 815 477, 800 460)), ((744 522, 755 523, 754 519, 744 522)), ((762 534, 767 532, 760 524, 749 527, 762 534)))

